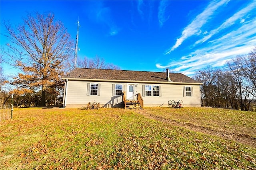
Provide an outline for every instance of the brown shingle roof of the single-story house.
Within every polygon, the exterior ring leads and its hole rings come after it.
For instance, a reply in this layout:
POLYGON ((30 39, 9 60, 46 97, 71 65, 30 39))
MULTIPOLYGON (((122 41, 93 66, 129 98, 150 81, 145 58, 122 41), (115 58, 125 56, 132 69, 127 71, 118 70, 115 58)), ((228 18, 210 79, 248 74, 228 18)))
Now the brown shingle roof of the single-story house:
MULTIPOLYGON (((200 83, 181 73, 169 73, 172 82, 180 83, 200 83)), ((111 69, 89 69, 76 68, 65 75, 62 79, 104 79, 104 80, 125 80, 125 81, 159 81, 166 80, 166 72, 151 71, 128 71, 128 70, 111 70, 111 69)))

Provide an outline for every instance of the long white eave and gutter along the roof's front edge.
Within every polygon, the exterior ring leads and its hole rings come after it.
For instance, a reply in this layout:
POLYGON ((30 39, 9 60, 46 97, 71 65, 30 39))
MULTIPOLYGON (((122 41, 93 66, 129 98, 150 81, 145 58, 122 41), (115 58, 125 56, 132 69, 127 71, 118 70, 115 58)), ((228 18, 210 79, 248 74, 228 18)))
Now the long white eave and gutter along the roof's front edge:
POLYGON ((108 79, 81 79, 81 78, 70 78, 62 77, 66 80, 77 80, 77 81, 103 81, 103 82, 124 82, 124 83, 157 83, 157 84, 182 84, 182 85, 202 85, 203 83, 184 83, 184 82, 173 82, 173 81, 136 81, 136 80, 108 80, 108 79))

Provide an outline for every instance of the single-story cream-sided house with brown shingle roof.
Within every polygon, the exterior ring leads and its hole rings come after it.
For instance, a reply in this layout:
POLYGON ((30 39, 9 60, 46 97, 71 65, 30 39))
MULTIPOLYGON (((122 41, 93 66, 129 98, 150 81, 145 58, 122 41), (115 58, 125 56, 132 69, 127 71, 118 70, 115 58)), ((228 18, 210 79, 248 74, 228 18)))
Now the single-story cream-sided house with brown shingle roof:
POLYGON ((63 107, 126 108, 130 102, 143 107, 168 107, 169 100, 182 100, 184 107, 201 107, 202 83, 181 73, 76 68, 65 80, 63 107), (126 103, 127 102, 127 103, 126 103))

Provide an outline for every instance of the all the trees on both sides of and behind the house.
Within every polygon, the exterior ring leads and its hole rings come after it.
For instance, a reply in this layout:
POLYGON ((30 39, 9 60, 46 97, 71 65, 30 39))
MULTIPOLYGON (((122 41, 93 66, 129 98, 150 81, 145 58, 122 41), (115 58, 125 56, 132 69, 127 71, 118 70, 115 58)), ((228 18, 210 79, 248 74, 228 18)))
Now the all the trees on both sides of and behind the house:
MULTIPOLYGON (((0 105, 10 103, 14 94, 17 107, 58 105, 62 103, 61 77, 74 68, 74 40, 54 14, 28 14, 22 24, 4 22, 8 43, 1 47, 0 64, 18 70, 4 76, 0 67, 0 105), (3 88, 5 87, 5 88, 3 88)), ((228 61, 224 69, 206 67, 197 71, 202 106, 252 110, 256 103, 256 47, 248 55, 228 61)), ((95 56, 78 58, 77 67, 120 69, 95 56)))

